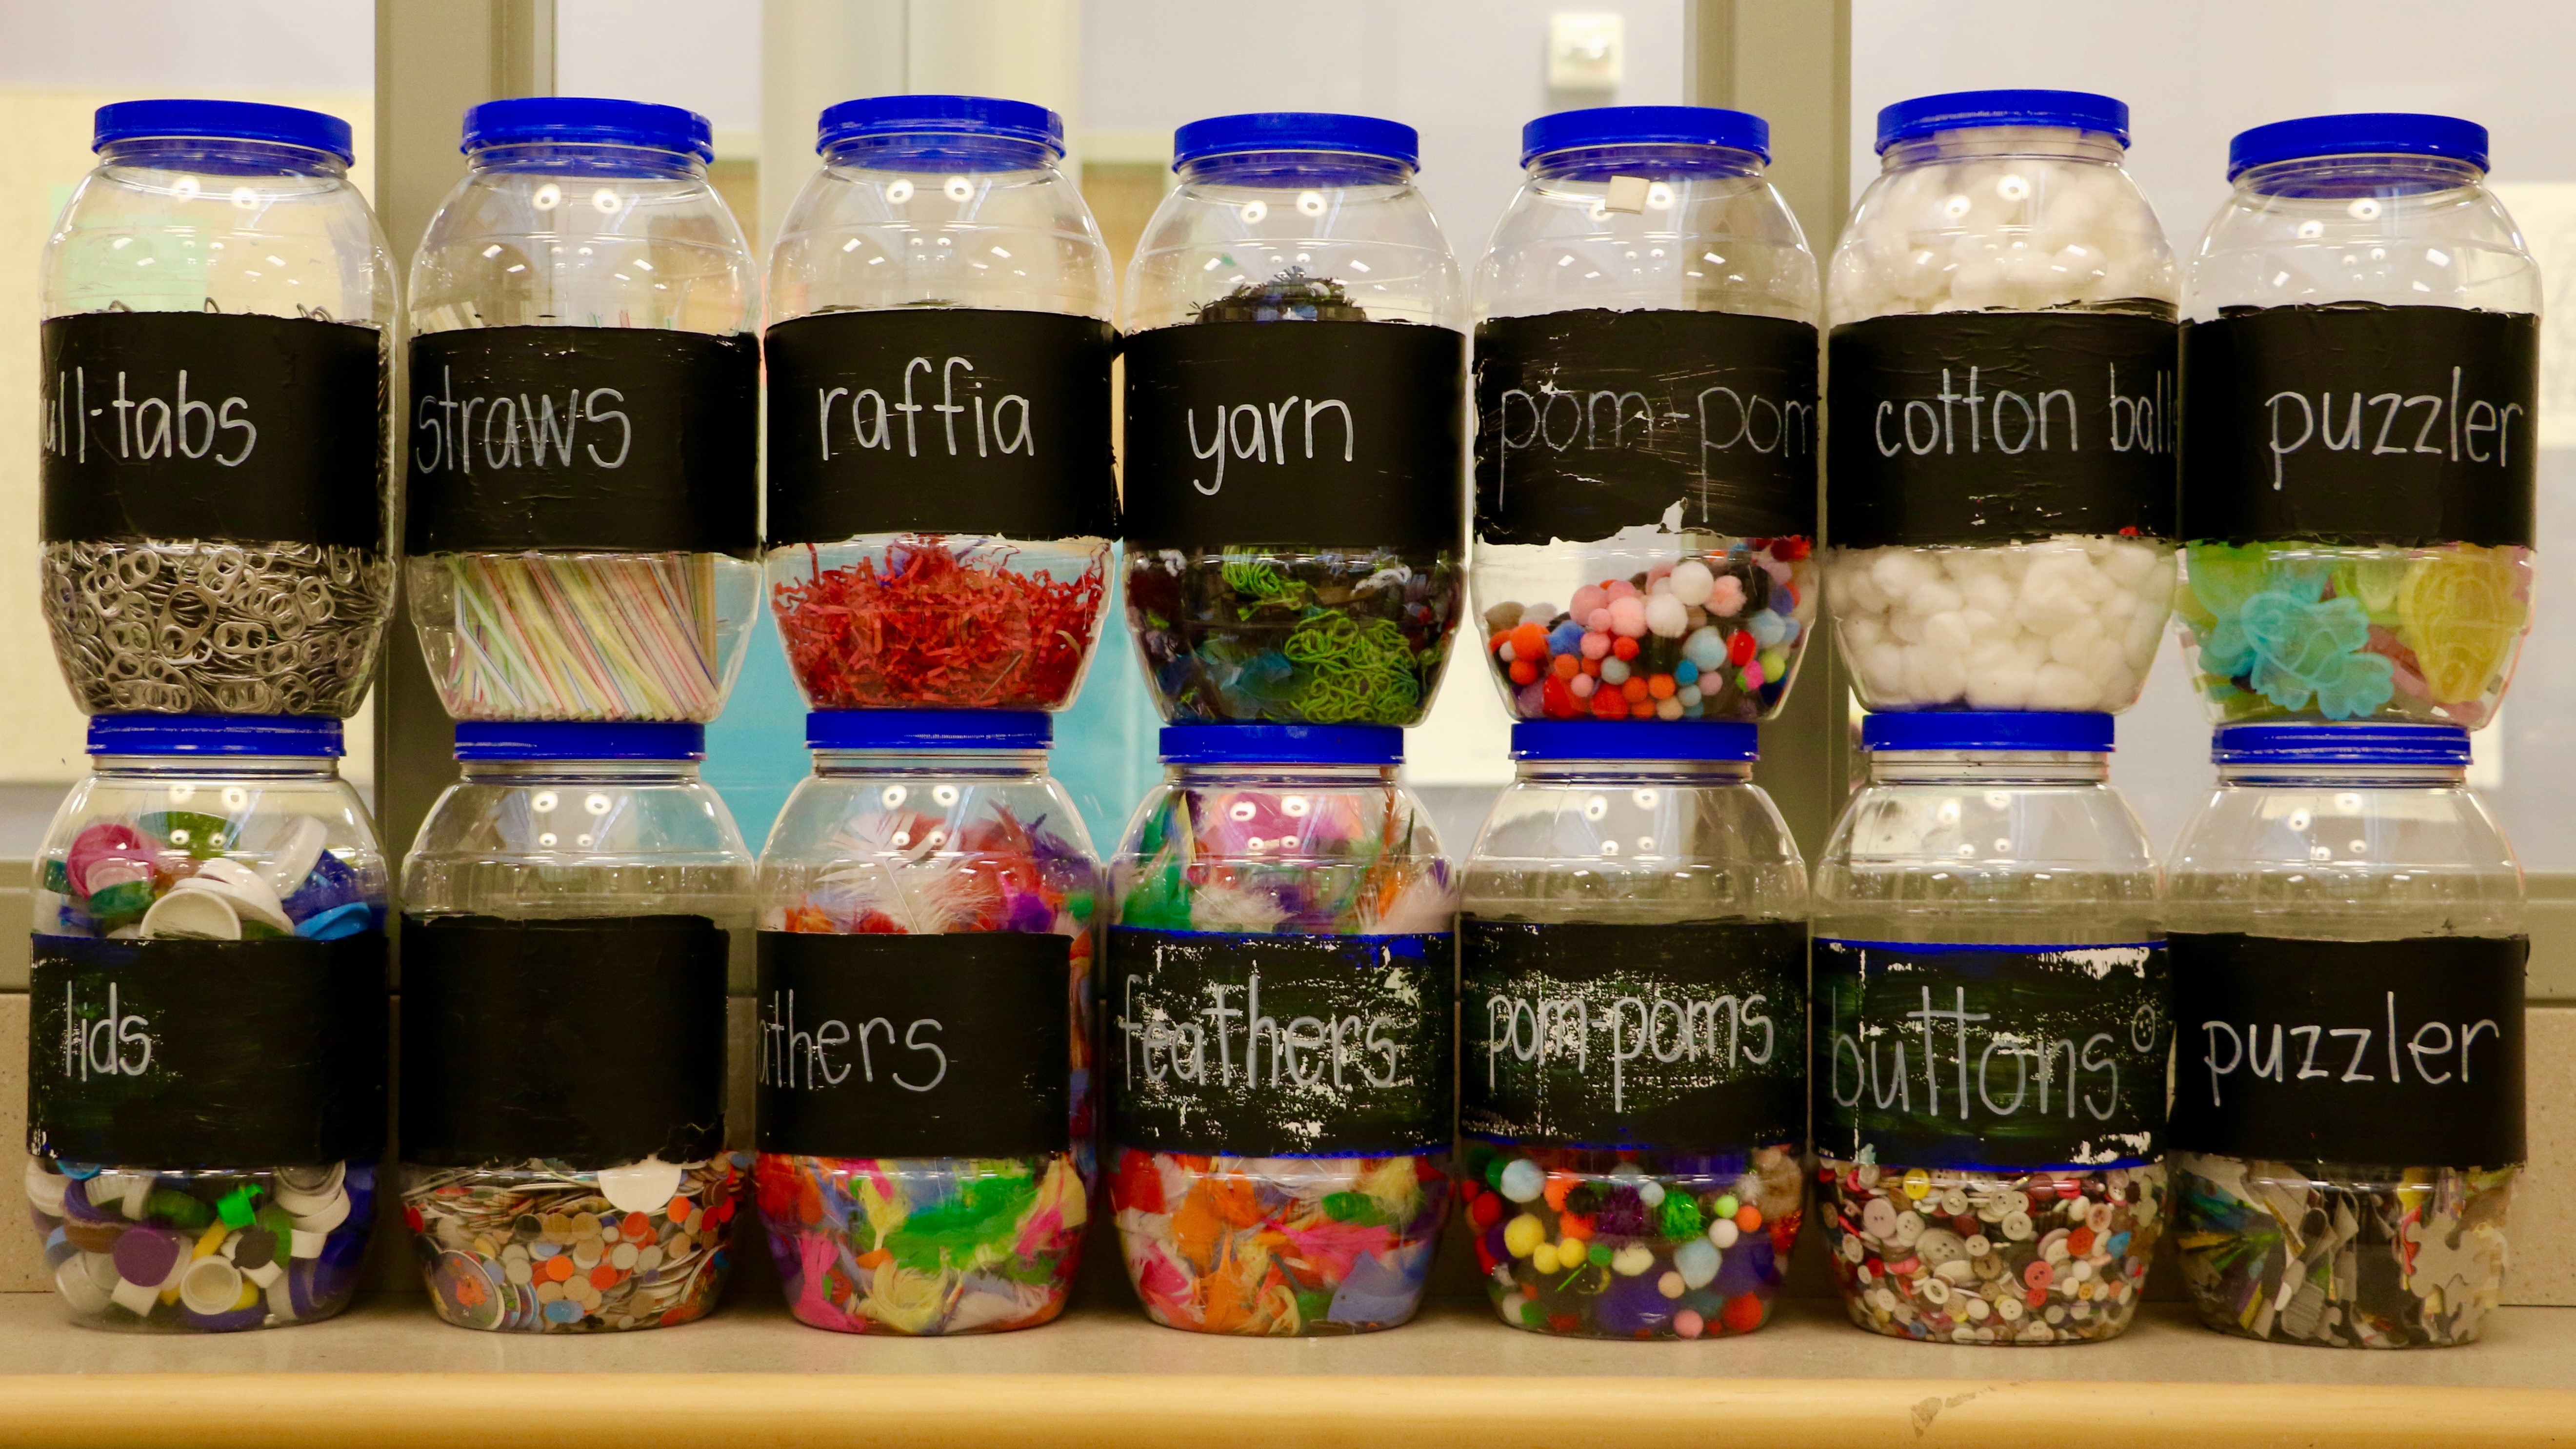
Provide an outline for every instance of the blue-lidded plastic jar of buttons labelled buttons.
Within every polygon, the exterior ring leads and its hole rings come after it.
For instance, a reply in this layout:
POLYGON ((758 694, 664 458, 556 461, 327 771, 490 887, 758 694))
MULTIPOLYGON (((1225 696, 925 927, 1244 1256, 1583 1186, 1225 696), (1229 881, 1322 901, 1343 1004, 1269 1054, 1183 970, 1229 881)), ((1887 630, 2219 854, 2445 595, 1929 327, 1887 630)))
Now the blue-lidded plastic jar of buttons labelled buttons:
POLYGON ((2172 1212, 2172 978, 2110 715, 1883 713, 1816 862, 1816 1215, 1852 1323, 2128 1328, 2172 1212))

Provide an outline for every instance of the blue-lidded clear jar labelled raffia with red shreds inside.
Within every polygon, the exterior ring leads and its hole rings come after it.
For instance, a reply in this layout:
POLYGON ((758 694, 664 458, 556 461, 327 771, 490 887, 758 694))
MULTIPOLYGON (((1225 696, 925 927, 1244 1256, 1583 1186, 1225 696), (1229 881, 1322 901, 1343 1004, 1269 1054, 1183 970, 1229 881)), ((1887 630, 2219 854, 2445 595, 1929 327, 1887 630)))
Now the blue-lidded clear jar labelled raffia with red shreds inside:
POLYGON ((1061 710, 1108 610, 1108 247, 1025 100, 822 113, 770 252, 770 610, 814 710, 1061 710))

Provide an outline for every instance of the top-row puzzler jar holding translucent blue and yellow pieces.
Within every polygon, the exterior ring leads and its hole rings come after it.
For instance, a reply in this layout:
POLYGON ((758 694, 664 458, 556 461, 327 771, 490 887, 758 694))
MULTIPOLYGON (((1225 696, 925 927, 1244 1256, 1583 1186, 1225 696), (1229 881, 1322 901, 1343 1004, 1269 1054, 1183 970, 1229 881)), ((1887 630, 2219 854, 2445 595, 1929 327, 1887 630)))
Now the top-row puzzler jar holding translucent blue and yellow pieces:
POLYGON ((2187 275, 2182 646, 2215 723, 2483 726, 2532 623, 2540 270, 2486 126, 2228 144, 2187 275))

